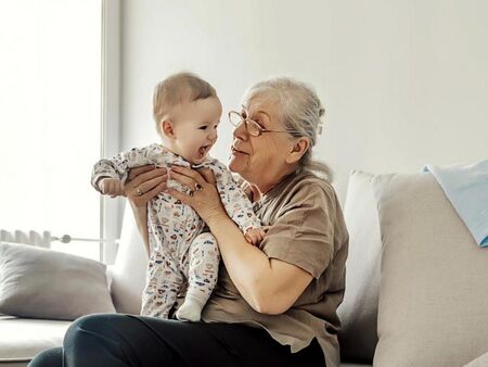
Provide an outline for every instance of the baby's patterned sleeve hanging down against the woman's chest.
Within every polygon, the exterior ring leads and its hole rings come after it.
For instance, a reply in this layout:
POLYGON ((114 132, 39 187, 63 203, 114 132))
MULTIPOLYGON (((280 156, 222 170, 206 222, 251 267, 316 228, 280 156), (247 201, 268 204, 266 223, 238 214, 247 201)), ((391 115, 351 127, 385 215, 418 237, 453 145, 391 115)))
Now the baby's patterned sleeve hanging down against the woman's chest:
POLYGON ((249 229, 260 228, 261 223, 254 213, 249 199, 235 181, 232 173, 223 164, 217 164, 214 172, 223 207, 241 231, 246 233, 249 229))

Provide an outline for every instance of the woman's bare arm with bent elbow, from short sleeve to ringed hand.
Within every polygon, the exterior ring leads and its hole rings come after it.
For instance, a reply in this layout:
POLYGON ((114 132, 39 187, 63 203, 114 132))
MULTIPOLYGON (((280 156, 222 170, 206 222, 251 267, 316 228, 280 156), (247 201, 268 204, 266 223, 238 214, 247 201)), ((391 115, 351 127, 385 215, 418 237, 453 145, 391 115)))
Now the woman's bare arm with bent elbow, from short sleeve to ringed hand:
POLYGON ((189 188, 203 189, 187 195, 167 191, 195 208, 216 237, 222 261, 235 287, 257 312, 281 314, 288 309, 312 280, 304 269, 275 258, 248 244, 239 227, 229 218, 215 188, 211 172, 171 167, 171 177, 189 188))

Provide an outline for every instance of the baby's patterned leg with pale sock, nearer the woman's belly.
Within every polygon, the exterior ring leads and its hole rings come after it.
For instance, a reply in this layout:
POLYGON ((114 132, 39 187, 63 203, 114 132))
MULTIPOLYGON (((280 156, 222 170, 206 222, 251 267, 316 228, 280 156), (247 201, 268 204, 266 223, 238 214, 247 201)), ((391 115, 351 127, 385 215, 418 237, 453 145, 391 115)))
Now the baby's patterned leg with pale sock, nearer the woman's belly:
POLYGON ((201 233, 190 245, 187 264, 188 291, 183 304, 176 316, 180 320, 198 321, 202 309, 208 301, 219 270, 220 253, 217 240, 211 233, 201 233))

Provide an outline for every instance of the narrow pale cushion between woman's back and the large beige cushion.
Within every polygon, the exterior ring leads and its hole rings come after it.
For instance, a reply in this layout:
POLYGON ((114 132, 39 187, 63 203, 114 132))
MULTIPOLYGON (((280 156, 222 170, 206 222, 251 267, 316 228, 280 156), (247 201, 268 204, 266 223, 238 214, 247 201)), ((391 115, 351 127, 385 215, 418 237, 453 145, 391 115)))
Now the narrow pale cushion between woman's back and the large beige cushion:
POLYGON ((349 231, 346 292, 337 309, 344 362, 371 364, 376 347, 382 241, 373 175, 355 170, 347 187, 344 218, 349 231))

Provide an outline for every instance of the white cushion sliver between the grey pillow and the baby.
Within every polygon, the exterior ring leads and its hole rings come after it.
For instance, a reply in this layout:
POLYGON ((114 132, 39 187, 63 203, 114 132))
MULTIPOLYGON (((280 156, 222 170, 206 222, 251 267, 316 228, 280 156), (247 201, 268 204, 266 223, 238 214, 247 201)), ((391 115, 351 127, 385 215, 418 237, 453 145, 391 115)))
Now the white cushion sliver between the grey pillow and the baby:
POLYGON ((110 267, 112 299, 119 313, 139 315, 147 254, 130 206, 126 206, 115 264, 110 267))

